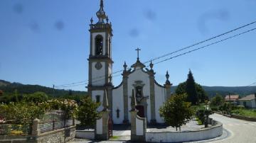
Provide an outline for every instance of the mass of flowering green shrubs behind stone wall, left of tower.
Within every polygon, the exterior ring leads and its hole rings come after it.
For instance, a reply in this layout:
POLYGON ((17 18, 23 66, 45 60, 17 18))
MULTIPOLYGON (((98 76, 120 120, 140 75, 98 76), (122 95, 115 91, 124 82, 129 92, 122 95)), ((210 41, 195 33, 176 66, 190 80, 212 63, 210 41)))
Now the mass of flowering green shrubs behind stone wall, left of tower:
POLYGON ((1 98, 0 124, 9 124, 15 128, 11 134, 24 134, 24 127, 31 127, 33 120, 43 120, 50 111, 61 110, 63 119, 77 118, 80 125, 94 125, 99 117, 96 109, 100 103, 95 103, 88 96, 59 96, 54 98, 43 92, 19 94, 14 91, 11 98, 1 98), (86 113, 86 114, 85 114, 86 113), (18 125, 18 126, 17 126, 18 125), (16 127, 17 126, 17 127, 16 127))

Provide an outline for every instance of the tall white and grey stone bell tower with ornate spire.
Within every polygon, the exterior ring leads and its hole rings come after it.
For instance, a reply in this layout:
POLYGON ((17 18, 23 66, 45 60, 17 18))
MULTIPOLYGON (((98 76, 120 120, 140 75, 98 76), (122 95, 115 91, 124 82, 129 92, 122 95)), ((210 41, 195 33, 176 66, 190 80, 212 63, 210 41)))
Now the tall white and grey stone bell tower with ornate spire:
MULTIPOLYGON (((104 91, 107 91, 110 108, 112 108, 112 25, 103 9, 97 11, 97 23, 90 20, 90 55, 89 83, 87 91, 92 100, 103 103, 104 91)), ((102 105, 99 108, 102 110, 102 105)))

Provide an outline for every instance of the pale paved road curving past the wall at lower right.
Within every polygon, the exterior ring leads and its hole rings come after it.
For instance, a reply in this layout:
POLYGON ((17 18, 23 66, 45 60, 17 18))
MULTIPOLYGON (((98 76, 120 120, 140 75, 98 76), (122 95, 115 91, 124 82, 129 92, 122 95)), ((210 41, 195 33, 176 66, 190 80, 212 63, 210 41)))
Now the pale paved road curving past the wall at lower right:
POLYGON ((225 130, 230 132, 230 137, 213 142, 256 143, 256 122, 228 118, 219 114, 210 116, 222 122, 225 130))

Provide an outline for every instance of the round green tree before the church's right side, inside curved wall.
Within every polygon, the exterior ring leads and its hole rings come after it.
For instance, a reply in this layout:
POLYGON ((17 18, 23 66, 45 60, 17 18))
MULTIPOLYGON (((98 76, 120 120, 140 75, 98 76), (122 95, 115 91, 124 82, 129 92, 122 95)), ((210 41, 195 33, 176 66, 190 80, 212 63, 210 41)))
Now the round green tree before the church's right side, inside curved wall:
POLYGON ((161 117, 171 127, 181 130, 181 126, 192 119, 194 110, 191 103, 186 102, 186 94, 174 95, 159 109, 161 117))

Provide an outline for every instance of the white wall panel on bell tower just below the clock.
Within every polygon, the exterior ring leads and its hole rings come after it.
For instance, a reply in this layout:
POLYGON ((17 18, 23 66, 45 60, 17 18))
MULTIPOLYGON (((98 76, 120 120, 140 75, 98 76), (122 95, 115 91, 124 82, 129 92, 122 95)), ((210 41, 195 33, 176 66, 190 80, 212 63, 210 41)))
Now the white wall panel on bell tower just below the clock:
POLYGON ((97 62, 92 62, 92 86, 104 86, 105 85, 105 62, 100 62, 102 68, 97 70, 95 68, 97 62))

